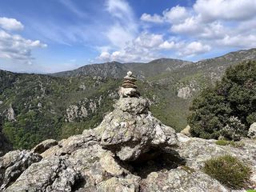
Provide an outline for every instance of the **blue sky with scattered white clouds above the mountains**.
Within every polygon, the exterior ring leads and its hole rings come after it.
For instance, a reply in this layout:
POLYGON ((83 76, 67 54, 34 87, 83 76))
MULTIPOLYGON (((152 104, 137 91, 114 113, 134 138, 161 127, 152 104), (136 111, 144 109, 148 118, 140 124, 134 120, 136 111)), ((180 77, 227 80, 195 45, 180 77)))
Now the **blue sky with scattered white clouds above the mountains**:
POLYGON ((256 47, 256 0, 0 1, 0 69, 198 61, 256 47))

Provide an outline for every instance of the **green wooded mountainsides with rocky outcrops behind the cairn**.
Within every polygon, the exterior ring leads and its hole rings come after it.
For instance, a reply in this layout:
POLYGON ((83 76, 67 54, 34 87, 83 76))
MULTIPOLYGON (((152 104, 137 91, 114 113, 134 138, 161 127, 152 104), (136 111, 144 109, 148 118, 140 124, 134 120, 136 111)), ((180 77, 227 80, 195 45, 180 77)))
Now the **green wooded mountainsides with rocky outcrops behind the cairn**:
POLYGON ((47 75, 0 70, 2 134, 14 149, 30 149, 47 138, 59 140, 98 126, 113 109, 128 70, 138 77, 152 114, 179 131, 187 125, 194 96, 221 78, 226 67, 246 59, 256 60, 256 49, 199 62, 107 62, 47 75))

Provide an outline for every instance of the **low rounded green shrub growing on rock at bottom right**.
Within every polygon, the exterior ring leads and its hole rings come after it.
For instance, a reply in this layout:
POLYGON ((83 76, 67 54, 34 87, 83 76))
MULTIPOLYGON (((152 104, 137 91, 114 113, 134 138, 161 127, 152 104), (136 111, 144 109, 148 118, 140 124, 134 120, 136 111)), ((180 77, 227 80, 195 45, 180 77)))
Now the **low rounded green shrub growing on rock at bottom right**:
POLYGON ((251 174, 248 166, 230 155, 206 161, 203 171, 234 190, 245 188, 251 174))

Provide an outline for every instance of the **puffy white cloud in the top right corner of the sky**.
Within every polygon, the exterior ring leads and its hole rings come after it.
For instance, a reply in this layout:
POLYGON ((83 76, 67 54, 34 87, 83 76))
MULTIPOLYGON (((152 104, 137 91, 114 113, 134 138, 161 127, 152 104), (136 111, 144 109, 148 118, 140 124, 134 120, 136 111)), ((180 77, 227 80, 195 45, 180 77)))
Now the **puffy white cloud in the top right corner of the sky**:
POLYGON ((254 18, 256 13, 255 0, 198 0, 194 10, 206 21, 216 19, 246 20, 254 18))

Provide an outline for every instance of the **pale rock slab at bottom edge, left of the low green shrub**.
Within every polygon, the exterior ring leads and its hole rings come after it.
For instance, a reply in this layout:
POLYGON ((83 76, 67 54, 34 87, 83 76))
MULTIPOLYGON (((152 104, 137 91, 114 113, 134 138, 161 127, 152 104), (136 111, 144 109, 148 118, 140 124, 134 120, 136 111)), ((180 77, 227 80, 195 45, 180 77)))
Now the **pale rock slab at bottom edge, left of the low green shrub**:
POLYGON ((186 171, 178 167, 174 170, 153 172, 142 179, 140 192, 151 191, 228 192, 229 190, 201 171, 186 171))

